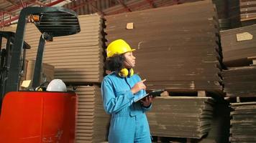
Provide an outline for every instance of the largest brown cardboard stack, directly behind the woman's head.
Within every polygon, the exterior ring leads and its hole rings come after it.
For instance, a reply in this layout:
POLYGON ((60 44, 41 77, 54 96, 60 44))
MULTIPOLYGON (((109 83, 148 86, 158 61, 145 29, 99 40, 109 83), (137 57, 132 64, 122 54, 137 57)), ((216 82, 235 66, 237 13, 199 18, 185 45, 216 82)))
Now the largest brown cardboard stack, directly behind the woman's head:
POLYGON ((107 44, 124 39, 147 89, 217 90, 219 46, 211 1, 106 16, 107 44))

